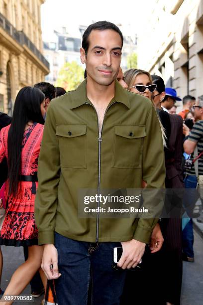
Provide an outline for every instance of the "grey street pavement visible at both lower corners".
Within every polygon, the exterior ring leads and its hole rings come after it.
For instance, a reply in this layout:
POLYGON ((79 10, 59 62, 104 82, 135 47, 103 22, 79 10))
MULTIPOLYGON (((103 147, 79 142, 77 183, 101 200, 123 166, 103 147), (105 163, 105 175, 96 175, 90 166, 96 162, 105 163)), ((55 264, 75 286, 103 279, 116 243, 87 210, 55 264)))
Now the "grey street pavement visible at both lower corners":
MULTIPOLYGON (((202 305, 203 304, 203 238, 196 231, 195 233, 195 263, 183 262, 183 286, 181 305, 202 305)), ((23 249, 21 247, 1 246, 3 253, 3 272, 1 289, 4 290, 15 269, 24 262, 23 249)), ((155 292, 156 294, 158 292, 155 292)), ((30 294, 28 285, 22 294, 30 294)), ((34 303, 22 303, 23 305, 40 305, 43 297, 36 298, 34 303)), ((13 303, 20 304, 21 303, 13 303)))

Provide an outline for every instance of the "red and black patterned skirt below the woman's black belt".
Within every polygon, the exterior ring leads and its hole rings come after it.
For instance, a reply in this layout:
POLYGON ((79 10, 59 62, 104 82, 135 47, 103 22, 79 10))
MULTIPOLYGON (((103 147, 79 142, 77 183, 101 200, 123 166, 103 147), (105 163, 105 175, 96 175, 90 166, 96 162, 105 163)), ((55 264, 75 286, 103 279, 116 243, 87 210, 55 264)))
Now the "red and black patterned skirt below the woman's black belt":
POLYGON ((21 181, 17 196, 7 197, 5 219, 0 231, 0 245, 15 247, 38 245, 34 201, 32 182, 21 181))

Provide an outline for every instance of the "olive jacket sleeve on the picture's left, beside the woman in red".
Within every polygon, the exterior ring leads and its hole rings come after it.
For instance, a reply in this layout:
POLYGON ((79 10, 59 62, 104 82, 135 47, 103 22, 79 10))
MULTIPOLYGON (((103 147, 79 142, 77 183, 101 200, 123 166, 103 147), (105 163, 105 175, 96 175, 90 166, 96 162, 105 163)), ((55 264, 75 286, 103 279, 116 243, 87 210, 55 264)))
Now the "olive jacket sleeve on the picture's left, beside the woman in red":
POLYGON ((55 214, 60 177, 59 144, 53 103, 50 103, 38 162, 38 189, 35 199, 35 220, 39 245, 54 244, 55 214))

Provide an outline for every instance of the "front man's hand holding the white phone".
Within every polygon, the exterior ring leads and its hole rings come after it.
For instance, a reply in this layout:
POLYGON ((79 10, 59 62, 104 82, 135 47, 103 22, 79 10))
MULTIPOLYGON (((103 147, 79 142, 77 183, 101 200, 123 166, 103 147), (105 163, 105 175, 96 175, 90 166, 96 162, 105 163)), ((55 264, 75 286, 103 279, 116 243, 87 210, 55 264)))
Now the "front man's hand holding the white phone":
POLYGON ((132 239, 127 242, 121 242, 123 253, 117 263, 117 266, 122 269, 134 268, 139 264, 144 254, 146 244, 138 240, 132 239))

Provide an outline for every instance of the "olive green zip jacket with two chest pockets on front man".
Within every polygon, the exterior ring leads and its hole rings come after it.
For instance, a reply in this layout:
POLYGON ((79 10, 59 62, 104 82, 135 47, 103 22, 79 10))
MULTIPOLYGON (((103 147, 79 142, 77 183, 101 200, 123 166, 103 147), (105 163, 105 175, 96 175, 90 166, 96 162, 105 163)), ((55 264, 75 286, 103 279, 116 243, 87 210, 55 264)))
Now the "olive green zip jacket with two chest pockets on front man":
POLYGON ((141 188, 142 179, 148 188, 165 183, 161 129, 151 101, 116 81, 99 135, 86 84, 52 100, 48 108, 35 201, 39 244, 53 244, 55 231, 86 242, 134 238, 149 243, 157 218, 78 217, 81 188, 141 188))

